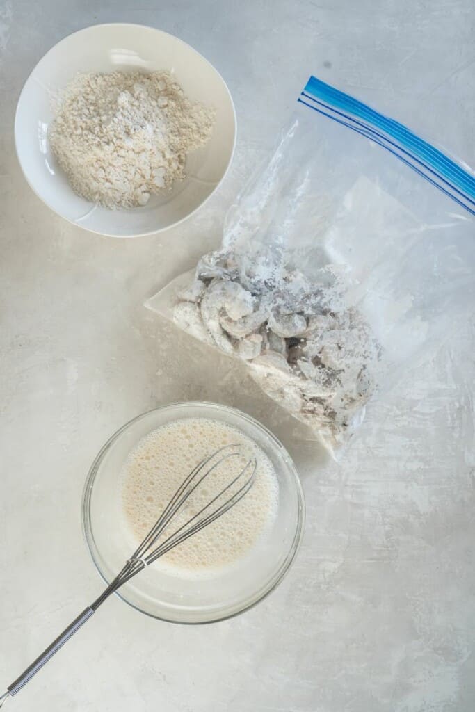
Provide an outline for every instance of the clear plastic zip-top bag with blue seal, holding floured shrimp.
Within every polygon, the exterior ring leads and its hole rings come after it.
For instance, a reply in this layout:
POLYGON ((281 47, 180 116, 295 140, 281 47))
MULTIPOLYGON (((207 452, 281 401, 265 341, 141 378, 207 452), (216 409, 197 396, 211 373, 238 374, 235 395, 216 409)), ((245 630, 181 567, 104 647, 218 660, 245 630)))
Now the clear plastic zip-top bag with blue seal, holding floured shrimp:
POLYGON ((474 303, 474 214, 468 167, 311 77, 221 248, 146 305, 245 360, 336 456, 474 303))

